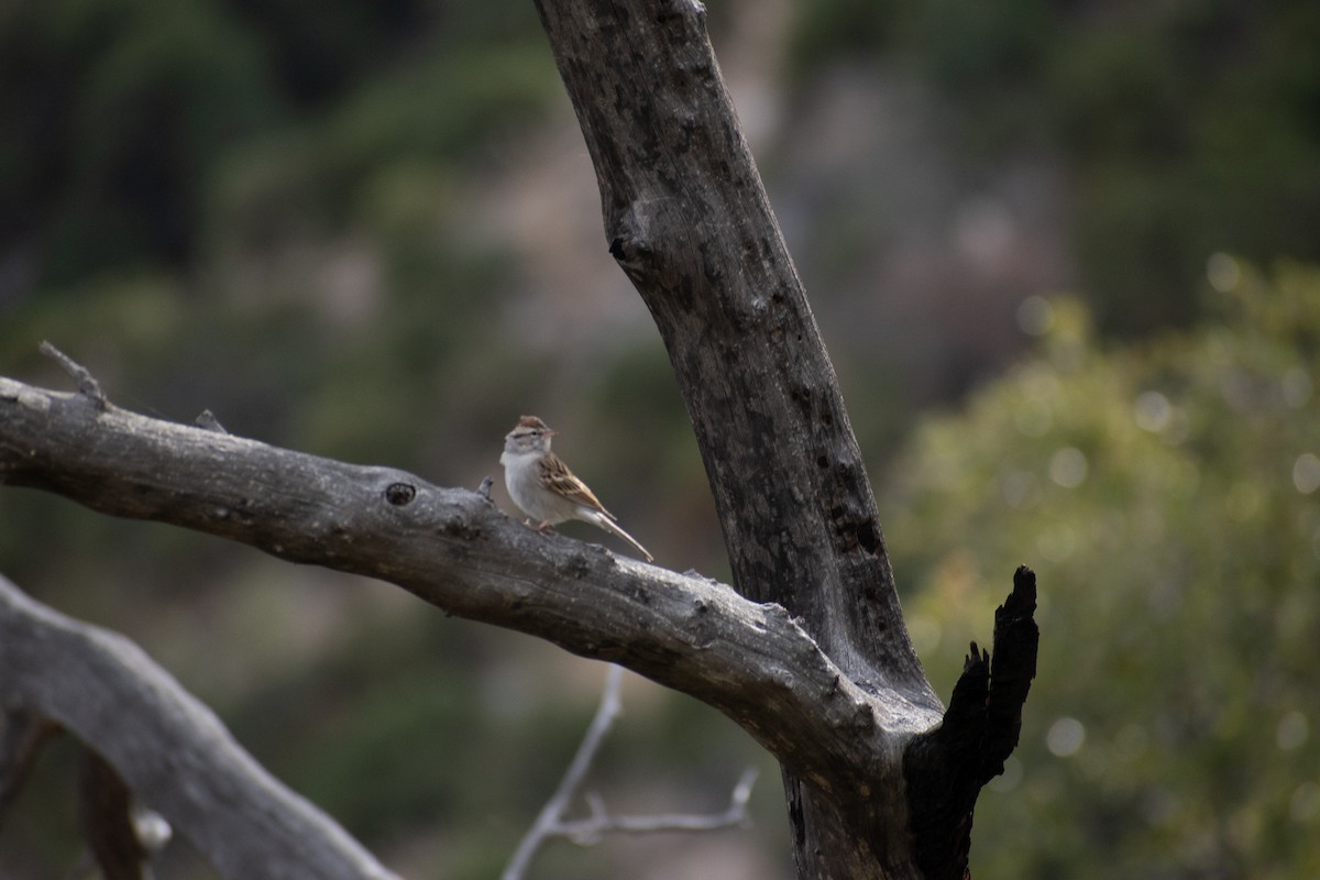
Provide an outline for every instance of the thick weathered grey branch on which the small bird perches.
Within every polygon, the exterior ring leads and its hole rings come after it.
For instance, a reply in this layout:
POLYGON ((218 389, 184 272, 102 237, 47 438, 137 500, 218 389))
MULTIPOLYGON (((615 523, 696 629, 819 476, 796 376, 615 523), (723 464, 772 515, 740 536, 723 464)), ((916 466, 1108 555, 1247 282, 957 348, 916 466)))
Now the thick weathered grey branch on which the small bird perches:
POLYGON ((719 708, 822 786, 878 784, 858 774, 876 743, 939 718, 863 691, 776 604, 537 533, 477 492, 79 404, 0 379, 0 483, 376 577, 618 662, 719 708))

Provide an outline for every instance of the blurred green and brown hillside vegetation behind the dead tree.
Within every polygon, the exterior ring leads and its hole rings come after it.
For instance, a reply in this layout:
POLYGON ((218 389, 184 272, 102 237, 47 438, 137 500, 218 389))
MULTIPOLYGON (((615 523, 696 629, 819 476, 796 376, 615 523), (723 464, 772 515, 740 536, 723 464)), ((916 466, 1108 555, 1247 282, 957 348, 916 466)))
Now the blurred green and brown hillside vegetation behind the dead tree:
MULTIPOLYGON (((940 693, 983 636, 981 573, 1059 584, 973 871, 1315 873, 1320 282, 1210 257, 1320 260, 1320 8, 710 17, 895 475, 876 495, 940 693)), ((669 567, 726 574, 529 3, 9 0, 0 131, 0 372, 61 383, 50 338, 131 408, 470 487, 535 409, 669 567)), ((32 492, 0 495, 0 569, 144 644, 408 876, 499 869, 601 678, 392 588, 32 492)), ((624 699, 598 778, 619 809, 719 809, 764 760, 690 701, 635 678, 624 699)), ((0 834, 7 877, 77 862, 67 764, 0 834)), ((763 767, 755 836, 552 848, 539 876, 775 876, 763 767)), ((165 860, 206 876, 182 843, 165 860)))

